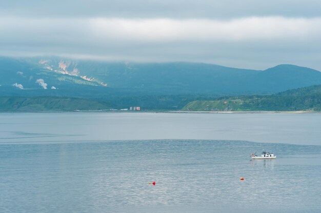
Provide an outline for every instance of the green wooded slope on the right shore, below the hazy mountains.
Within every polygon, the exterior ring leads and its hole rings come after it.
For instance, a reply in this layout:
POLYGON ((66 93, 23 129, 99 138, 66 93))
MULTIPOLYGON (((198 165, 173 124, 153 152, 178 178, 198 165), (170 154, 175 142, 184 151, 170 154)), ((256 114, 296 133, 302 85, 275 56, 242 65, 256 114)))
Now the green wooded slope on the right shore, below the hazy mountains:
POLYGON ((280 92, 272 96, 240 96, 193 101, 183 111, 321 111, 321 85, 280 92))

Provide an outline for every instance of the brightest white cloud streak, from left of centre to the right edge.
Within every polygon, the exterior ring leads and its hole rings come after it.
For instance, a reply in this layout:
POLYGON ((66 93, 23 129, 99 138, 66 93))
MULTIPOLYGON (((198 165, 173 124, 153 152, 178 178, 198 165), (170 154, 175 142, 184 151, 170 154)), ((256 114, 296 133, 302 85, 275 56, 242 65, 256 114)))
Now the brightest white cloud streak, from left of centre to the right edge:
POLYGON ((93 37, 145 43, 182 40, 208 42, 303 39, 321 35, 321 18, 247 17, 223 21, 94 18, 89 22, 93 37))

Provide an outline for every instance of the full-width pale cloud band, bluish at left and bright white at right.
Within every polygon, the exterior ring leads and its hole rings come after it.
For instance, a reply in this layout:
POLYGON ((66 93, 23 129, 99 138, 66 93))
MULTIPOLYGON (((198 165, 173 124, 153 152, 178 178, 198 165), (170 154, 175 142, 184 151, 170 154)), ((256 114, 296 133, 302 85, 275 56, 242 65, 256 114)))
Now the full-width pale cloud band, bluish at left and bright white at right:
MULTIPOLYGON (((321 17, 285 18, 246 17, 231 20, 218 19, 33 19, 0 17, 0 27, 7 30, 0 35, 8 45, 34 44, 38 46, 64 46, 66 50, 75 45, 92 45, 95 48, 121 45, 122 42, 166 41, 244 41, 273 39, 318 38, 321 34, 321 17), (52 31, 64 31, 53 34, 52 31), (20 36, 25 33, 29 36, 20 36), (32 36, 31 36, 32 35, 32 36), (95 42, 93 42, 93 40, 95 42)), ((60 65, 60 64, 59 64, 60 65)), ((61 62, 63 68, 68 63, 61 62)))

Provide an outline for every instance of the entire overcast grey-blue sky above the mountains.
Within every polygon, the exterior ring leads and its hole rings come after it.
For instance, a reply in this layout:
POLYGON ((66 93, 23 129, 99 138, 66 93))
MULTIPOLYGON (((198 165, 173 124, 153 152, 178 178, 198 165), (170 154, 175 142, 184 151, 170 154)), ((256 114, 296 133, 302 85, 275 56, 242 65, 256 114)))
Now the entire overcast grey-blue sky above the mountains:
POLYGON ((0 55, 321 70, 319 0, 0 1, 0 55))

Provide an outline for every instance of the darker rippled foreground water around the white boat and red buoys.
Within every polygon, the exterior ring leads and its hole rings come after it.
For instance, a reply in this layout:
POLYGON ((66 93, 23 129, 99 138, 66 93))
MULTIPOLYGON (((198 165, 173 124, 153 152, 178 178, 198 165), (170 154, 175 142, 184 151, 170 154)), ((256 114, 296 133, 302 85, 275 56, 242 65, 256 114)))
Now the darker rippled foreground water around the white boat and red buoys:
POLYGON ((320 146, 120 140, 0 148, 4 213, 321 211, 320 146), (250 159, 263 148, 277 158, 250 159))

